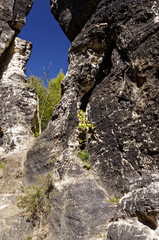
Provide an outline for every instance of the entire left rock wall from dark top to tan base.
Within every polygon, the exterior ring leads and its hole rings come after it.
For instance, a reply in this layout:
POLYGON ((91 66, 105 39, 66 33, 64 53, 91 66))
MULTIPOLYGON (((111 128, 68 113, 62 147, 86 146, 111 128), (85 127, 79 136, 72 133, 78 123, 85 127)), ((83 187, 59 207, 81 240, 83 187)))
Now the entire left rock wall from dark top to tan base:
POLYGON ((24 185, 24 162, 33 142, 35 90, 26 84, 31 43, 17 38, 33 1, 0 2, 0 239, 27 239, 31 223, 17 201, 24 185))

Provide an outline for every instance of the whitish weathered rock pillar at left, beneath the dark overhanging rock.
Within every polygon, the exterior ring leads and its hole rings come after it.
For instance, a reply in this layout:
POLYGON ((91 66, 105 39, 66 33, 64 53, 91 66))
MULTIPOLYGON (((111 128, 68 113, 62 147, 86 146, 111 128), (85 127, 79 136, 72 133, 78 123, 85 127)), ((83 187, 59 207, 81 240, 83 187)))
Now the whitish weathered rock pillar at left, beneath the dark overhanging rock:
POLYGON ((26 84, 25 64, 31 53, 31 43, 15 38, 1 65, 1 146, 0 153, 15 152, 30 140, 31 122, 36 110, 35 90, 26 84))

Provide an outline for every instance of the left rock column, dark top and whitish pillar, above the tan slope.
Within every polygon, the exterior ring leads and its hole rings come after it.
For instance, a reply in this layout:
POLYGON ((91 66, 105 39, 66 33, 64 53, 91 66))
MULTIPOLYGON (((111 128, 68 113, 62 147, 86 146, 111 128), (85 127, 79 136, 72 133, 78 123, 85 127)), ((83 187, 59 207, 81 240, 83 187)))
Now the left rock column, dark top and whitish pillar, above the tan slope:
POLYGON ((31 43, 17 38, 26 22, 32 1, 2 1, 0 4, 0 154, 25 148, 32 136, 36 108, 34 90, 26 84, 25 65, 31 43))

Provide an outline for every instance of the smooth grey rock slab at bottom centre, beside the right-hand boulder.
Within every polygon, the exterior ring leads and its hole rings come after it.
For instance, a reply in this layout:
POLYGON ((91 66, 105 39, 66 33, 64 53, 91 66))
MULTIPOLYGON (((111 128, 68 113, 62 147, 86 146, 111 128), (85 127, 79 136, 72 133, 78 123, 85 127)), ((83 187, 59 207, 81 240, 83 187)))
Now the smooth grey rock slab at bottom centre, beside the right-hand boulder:
MULTIPOLYGON (((76 161, 76 160, 75 160, 76 161)), ((72 164, 50 194, 48 239, 105 239, 116 207, 107 192, 78 164, 72 164), (85 181, 83 181, 85 179, 85 181)))

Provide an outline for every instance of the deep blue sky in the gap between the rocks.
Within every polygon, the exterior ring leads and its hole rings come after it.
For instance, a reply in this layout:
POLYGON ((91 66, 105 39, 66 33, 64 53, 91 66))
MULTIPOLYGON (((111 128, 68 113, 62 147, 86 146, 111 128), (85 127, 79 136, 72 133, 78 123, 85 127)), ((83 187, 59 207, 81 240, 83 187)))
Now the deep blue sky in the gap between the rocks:
POLYGON ((26 65, 27 77, 42 77, 43 67, 47 70, 50 62, 50 78, 56 77, 60 69, 66 73, 71 43, 50 12, 50 0, 34 0, 26 25, 18 37, 33 44, 32 54, 26 65))

